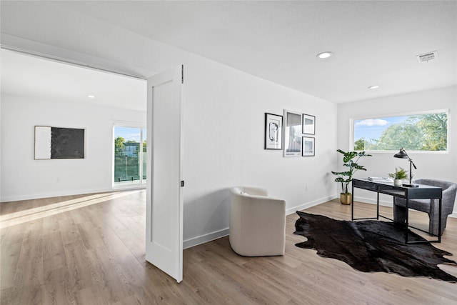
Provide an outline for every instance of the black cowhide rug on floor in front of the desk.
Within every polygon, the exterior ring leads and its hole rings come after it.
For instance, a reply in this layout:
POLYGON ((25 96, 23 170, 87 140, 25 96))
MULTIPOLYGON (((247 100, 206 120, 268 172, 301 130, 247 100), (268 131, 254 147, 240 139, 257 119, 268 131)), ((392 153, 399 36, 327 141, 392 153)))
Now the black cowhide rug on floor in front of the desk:
MULTIPOLYGON (((427 276, 456 283, 457 277, 438 268, 438 264, 457 265, 443 257, 452 254, 431 244, 404 244, 405 229, 386 221, 340 221, 297 211, 293 234, 308 240, 296 246, 316 249, 322 257, 339 259, 353 269, 383 271, 401 276, 427 276)), ((409 240, 423 240, 409 232, 409 240)))

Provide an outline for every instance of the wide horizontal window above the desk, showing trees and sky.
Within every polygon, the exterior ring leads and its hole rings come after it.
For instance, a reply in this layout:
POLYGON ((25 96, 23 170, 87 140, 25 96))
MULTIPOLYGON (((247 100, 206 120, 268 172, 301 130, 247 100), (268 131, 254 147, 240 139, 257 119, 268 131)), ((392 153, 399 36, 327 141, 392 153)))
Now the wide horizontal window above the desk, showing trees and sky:
POLYGON ((356 151, 447 151, 448 110, 353 120, 356 151))

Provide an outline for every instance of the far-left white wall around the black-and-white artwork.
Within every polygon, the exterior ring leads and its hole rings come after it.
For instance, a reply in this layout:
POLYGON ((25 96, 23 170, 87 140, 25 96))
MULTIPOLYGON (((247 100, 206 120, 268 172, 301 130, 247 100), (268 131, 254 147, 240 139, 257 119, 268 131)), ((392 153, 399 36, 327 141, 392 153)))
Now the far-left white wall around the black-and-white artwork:
POLYGON ((145 124, 146 113, 2 94, 1 201, 111 191, 116 121, 145 124), (85 158, 34 160, 36 125, 86 129, 85 158))

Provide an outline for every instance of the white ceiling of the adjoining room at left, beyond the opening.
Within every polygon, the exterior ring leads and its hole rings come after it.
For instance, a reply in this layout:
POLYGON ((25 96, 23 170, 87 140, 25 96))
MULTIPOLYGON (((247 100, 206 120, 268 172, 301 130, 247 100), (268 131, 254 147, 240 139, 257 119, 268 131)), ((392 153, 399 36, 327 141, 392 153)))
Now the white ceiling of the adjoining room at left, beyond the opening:
POLYGON ((3 94, 144 111, 146 81, 1 50, 3 94), (89 98, 92 95, 95 98, 89 98))

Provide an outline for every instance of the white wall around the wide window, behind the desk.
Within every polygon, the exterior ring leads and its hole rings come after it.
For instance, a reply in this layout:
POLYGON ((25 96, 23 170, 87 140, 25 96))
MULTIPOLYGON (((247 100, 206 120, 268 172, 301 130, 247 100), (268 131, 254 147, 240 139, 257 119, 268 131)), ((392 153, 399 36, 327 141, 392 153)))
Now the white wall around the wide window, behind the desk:
MULTIPOLYGON (((431 178, 453 181, 457 183, 457 87, 414 92, 388 96, 381 99, 371 99, 338 105, 338 148, 350 149, 350 120, 369 117, 395 116, 414 111, 433 111, 435 109, 450 109, 448 122, 448 153, 423 153, 407 151, 417 169, 413 169, 415 179, 431 178)), ((400 147, 398 147, 398 150, 400 147)), ((398 152, 398 151, 397 151, 398 152)), ((373 156, 361 159, 361 164, 368 171, 358 171, 356 178, 367 176, 387 176, 395 171, 396 166, 408 169, 408 161, 393 158, 395 153, 370 152, 373 156)), ((342 168, 341 160, 338 166, 342 168)), ((356 190, 356 200, 373 202, 376 197, 368 191, 356 190)), ((381 197, 383 204, 391 205, 391 197, 381 197)), ((457 204, 453 216, 457 216, 457 204)))

